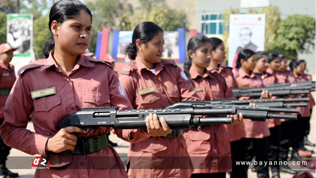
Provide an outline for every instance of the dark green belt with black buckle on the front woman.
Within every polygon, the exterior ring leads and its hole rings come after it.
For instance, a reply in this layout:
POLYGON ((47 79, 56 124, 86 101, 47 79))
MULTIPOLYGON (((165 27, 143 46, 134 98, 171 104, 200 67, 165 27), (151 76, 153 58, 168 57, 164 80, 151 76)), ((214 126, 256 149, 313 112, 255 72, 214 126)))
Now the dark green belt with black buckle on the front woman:
POLYGON ((66 150, 62 154, 90 154, 100 149, 104 149, 109 145, 107 142, 106 133, 95 137, 78 138, 76 147, 73 151, 66 150))

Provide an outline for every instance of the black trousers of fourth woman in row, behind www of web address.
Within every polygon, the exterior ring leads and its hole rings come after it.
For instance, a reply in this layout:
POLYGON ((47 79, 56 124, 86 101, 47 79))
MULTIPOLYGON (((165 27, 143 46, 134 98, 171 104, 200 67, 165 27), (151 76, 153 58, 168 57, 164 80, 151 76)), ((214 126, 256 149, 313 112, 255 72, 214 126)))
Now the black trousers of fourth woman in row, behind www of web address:
POLYGON ((230 178, 244 178, 247 177, 247 172, 245 171, 245 165, 237 165, 236 161, 245 161, 246 138, 241 138, 234 142, 230 142, 230 148, 232 151, 232 172, 228 173, 230 178))

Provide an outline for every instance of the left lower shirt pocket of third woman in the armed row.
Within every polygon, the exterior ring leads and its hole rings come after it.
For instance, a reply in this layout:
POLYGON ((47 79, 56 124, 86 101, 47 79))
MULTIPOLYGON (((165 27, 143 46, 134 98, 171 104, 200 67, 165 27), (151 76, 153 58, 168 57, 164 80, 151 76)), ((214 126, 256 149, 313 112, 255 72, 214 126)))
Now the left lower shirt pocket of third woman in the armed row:
POLYGON ((188 142, 187 142, 187 149, 189 153, 192 154, 201 154, 201 153, 208 153, 211 149, 210 143, 210 129, 209 128, 202 128, 202 130, 189 130, 188 131, 188 142))

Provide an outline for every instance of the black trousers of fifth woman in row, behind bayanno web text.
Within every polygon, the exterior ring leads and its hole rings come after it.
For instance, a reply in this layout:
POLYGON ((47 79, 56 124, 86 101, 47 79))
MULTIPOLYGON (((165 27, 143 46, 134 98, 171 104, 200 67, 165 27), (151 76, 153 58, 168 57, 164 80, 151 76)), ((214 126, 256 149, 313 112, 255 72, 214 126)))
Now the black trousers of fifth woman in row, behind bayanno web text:
MULTIPOLYGON (((258 163, 255 165, 257 170, 257 177, 258 178, 269 178, 269 165, 267 164, 264 166, 264 162, 269 161, 269 138, 246 138, 245 146, 246 150, 246 157, 245 161, 252 161, 253 157, 255 156, 255 161, 258 163), (260 165, 260 162, 262 165, 260 165)), ((246 171, 248 172, 249 165, 246 165, 246 171)))

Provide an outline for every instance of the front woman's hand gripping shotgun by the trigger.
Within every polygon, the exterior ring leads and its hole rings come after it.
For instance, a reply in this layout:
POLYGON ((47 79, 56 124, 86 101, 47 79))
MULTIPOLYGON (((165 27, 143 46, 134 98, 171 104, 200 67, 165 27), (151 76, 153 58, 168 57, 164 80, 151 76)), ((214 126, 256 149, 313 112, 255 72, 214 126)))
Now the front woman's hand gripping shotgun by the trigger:
POLYGON ((56 135, 48 138, 45 150, 54 153, 60 153, 65 150, 74 150, 77 144, 77 136, 70 134, 72 132, 85 133, 86 131, 74 126, 60 129, 56 135))

